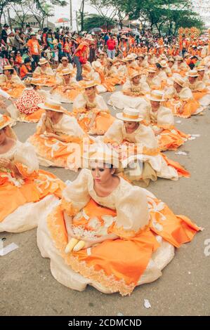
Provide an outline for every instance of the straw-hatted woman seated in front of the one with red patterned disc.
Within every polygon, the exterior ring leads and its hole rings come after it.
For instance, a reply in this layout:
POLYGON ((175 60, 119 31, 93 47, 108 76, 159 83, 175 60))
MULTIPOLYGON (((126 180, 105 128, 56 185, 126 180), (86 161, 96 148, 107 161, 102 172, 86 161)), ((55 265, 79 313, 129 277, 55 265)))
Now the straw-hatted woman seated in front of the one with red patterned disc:
POLYGON ((78 171, 83 146, 90 139, 61 103, 46 99, 39 107, 45 110, 44 114, 37 124, 36 133, 28 139, 37 152, 39 164, 78 171))

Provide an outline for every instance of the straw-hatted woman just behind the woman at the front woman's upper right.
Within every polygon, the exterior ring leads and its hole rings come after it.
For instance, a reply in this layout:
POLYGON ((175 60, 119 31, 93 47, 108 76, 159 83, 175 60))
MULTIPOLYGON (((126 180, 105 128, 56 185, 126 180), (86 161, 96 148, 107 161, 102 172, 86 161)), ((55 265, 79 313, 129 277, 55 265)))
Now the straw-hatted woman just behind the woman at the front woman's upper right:
POLYGON ((164 93, 152 91, 150 94, 150 108, 145 117, 145 124, 150 124, 159 143, 160 150, 177 150, 190 137, 174 126, 173 112, 164 107, 164 93))

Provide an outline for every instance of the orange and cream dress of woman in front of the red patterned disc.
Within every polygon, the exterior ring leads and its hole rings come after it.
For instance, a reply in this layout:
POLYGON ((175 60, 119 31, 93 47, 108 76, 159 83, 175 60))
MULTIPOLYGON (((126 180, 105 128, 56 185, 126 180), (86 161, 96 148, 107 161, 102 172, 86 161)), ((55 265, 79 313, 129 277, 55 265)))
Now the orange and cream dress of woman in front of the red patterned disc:
MULTIPOLYGON (((42 166, 65 167, 77 171, 81 167, 81 152, 84 143, 89 143, 89 138, 81 129, 77 120, 69 114, 64 113, 57 124, 51 123, 53 133, 62 137, 64 141, 45 136, 41 133, 44 126, 44 115, 37 124, 37 132, 28 138, 29 143, 34 146, 42 166)), ((47 128, 46 128, 46 131, 47 128)), ((52 132, 48 132, 52 133, 52 132)))

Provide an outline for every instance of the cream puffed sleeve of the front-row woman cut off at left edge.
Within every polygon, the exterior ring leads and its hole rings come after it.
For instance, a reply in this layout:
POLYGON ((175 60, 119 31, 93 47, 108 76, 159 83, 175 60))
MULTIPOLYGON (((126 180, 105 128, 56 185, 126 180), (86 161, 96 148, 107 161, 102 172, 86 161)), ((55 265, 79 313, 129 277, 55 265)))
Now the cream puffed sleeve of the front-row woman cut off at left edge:
POLYGON ((39 170, 36 152, 29 143, 18 143, 13 161, 18 171, 25 178, 36 175, 39 170))

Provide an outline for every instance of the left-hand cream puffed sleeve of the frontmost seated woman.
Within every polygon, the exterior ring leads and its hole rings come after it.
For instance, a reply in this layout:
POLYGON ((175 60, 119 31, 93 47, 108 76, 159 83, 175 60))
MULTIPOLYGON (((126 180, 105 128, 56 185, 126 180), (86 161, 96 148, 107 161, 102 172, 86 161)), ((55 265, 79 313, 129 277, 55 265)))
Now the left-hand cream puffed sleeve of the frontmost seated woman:
POLYGON ((91 199, 88 193, 90 176, 88 169, 82 169, 77 179, 63 190, 61 206, 68 216, 75 216, 91 199))

